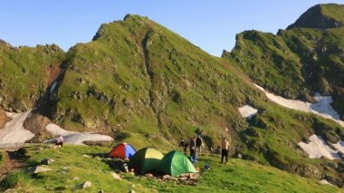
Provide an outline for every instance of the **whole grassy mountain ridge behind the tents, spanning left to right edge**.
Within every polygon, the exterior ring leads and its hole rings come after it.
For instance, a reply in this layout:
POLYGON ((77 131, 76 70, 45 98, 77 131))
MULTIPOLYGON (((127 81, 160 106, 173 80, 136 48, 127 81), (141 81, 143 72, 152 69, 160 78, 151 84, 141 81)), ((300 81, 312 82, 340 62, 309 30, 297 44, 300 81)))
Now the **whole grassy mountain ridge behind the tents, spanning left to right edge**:
POLYGON ((54 45, 5 43, 0 105, 5 111, 35 108, 67 130, 106 133, 138 147, 175 148, 200 130, 206 150, 215 152, 228 136, 233 157, 340 187, 344 164, 309 159, 299 142, 316 134, 337 143, 344 128, 269 101, 253 84, 302 101, 312 101, 316 91, 330 94, 344 115, 344 29, 294 26, 276 35, 238 34, 234 50, 222 58, 133 14, 101 24, 90 43, 67 53, 54 45), (257 110, 251 119, 238 111, 246 105, 257 110))

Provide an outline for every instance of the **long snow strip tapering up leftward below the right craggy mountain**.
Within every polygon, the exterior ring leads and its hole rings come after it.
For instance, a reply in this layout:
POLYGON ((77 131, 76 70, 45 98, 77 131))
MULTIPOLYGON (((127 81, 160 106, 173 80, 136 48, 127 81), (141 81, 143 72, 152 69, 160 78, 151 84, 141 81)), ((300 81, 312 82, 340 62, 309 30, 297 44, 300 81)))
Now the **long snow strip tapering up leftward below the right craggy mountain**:
POLYGON ((326 119, 336 121, 339 123, 339 125, 344 127, 344 121, 339 120, 339 113, 337 111, 334 111, 333 108, 330 106, 330 103, 333 102, 332 97, 330 96, 320 96, 319 93, 316 93, 314 99, 317 102, 310 103, 306 101, 284 99, 281 96, 276 96, 272 93, 266 92, 262 87, 256 84, 254 84, 254 86, 263 91, 269 98, 269 100, 274 101, 277 104, 282 105, 283 107, 297 111, 311 112, 326 119))

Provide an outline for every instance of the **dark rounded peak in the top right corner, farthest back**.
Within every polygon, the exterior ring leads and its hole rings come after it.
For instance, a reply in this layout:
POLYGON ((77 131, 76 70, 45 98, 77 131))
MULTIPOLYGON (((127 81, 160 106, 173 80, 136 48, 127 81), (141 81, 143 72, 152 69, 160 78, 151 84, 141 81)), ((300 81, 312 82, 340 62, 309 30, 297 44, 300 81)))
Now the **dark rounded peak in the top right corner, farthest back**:
POLYGON ((326 4, 314 5, 304 14, 301 14, 294 24, 287 29, 293 28, 338 28, 344 25, 344 5, 326 4))

